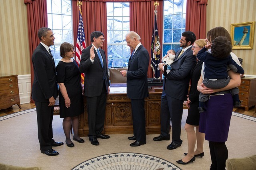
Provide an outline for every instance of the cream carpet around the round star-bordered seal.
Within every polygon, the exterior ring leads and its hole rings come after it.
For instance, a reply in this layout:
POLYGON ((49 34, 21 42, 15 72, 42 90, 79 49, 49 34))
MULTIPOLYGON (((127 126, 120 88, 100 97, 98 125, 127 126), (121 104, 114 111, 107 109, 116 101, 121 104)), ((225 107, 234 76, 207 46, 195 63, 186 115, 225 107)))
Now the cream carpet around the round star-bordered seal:
MULTIPOLYGON (((176 160, 184 157, 183 153, 187 152, 188 149, 184 129, 186 116, 187 110, 184 110, 181 136, 183 143, 181 147, 175 150, 166 149, 171 141, 153 141, 153 137, 159 134, 147 135, 147 144, 140 147, 130 147, 129 144, 132 141, 129 141, 127 137, 132 134, 122 134, 110 135, 110 139, 106 140, 98 139, 99 146, 91 145, 88 137, 82 137, 85 143, 74 141, 75 146, 73 148, 67 147, 66 144, 53 147, 60 154, 58 156, 47 156, 42 154, 39 149, 35 109, 27 110, 25 113, 14 113, 0 117, 0 163, 24 167, 39 166, 43 170, 70 170, 86 160, 106 154, 124 152, 156 156, 183 170, 208 170, 211 163, 208 141, 204 143, 204 157, 196 157, 194 162, 187 165, 176 163, 176 160)), ((52 125, 54 140, 64 142, 62 119, 59 116, 54 116, 52 125)), ((231 119, 229 137, 226 142, 229 151, 228 158, 242 158, 256 154, 255 137, 256 118, 235 113, 231 119)))

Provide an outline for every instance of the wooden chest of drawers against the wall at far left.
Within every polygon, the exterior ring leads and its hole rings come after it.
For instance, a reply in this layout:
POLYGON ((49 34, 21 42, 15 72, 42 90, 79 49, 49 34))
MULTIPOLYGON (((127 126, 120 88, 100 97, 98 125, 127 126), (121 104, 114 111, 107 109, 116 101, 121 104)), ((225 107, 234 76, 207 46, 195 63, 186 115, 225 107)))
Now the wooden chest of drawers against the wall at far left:
POLYGON ((0 75, 0 109, 15 104, 20 107, 18 75, 0 75))

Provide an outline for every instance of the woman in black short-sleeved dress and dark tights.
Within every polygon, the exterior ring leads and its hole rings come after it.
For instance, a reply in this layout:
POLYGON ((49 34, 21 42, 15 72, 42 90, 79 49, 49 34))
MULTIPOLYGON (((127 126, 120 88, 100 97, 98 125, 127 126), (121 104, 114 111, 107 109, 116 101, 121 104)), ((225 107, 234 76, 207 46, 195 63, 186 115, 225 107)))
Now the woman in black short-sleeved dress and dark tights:
POLYGON ((74 53, 72 44, 62 43, 60 45, 62 59, 56 67, 59 85, 60 118, 64 118, 62 125, 68 147, 74 147, 74 143, 70 139, 71 125, 74 131, 73 140, 84 143, 84 139, 81 139, 78 135, 78 115, 84 113, 84 102, 81 74, 78 64, 72 59, 74 53))

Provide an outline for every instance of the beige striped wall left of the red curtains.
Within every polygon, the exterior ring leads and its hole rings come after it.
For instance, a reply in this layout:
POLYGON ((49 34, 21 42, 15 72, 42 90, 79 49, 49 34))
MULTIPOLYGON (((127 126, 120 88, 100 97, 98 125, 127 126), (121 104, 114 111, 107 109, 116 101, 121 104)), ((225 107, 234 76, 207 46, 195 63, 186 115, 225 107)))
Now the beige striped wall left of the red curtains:
POLYGON ((0 73, 30 74, 27 10, 24 0, 1 1, 0 73))

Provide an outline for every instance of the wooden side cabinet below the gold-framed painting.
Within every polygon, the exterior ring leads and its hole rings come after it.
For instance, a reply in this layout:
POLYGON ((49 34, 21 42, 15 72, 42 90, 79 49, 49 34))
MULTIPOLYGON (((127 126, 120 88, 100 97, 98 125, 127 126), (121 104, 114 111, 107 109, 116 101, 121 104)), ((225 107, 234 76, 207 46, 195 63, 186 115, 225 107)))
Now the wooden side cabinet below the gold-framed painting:
POLYGON ((238 88, 241 107, 249 111, 249 108, 255 105, 256 78, 241 78, 241 85, 238 88))

